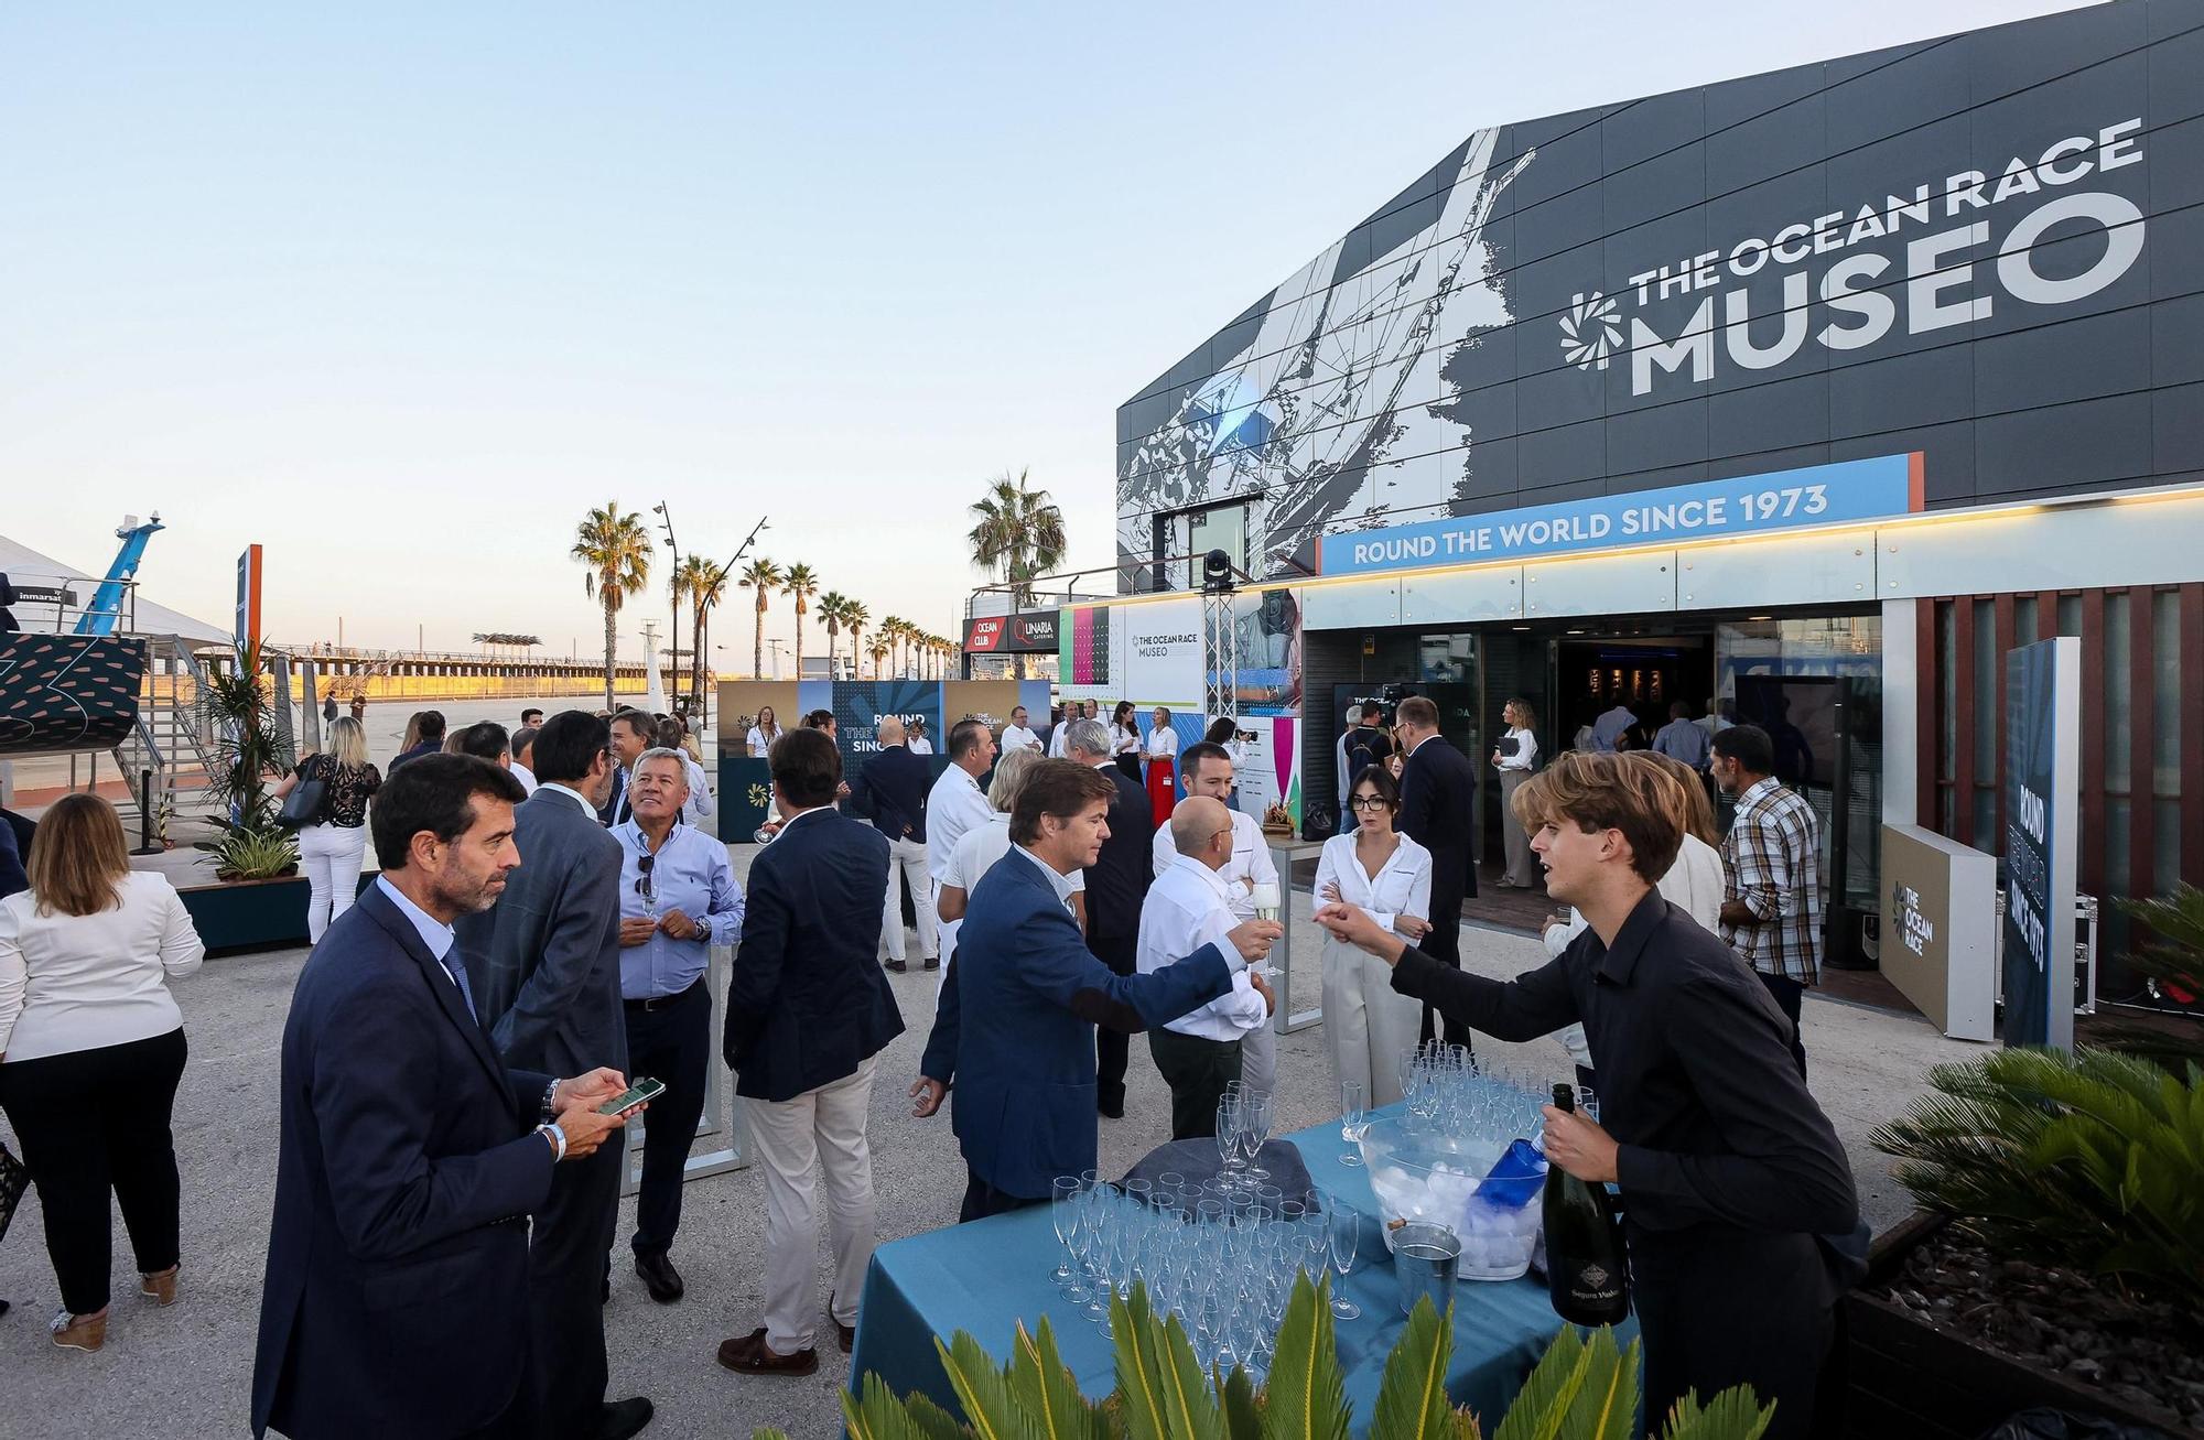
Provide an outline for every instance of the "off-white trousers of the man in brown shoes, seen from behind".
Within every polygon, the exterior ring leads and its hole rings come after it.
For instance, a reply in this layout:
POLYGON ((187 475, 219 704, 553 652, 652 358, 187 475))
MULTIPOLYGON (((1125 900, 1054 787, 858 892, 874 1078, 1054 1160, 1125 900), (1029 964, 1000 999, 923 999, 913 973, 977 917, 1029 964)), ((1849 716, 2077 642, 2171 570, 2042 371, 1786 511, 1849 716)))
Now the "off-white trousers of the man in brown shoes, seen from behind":
POLYGON ((743 1101, 765 1171, 765 1343, 776 1354, 813 1343, 820 1189, 833 1237, 833 1319, 857 1323, 864 1270, 873 1264, 873 1149, 864 1123, 873 1108, 875 1059, 793 1101, 743 1101))

